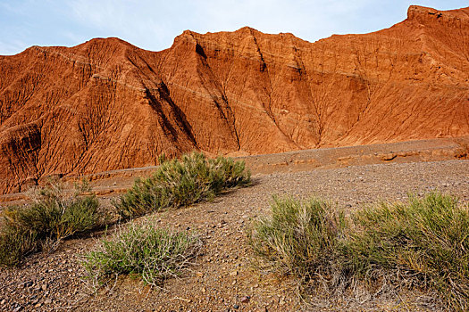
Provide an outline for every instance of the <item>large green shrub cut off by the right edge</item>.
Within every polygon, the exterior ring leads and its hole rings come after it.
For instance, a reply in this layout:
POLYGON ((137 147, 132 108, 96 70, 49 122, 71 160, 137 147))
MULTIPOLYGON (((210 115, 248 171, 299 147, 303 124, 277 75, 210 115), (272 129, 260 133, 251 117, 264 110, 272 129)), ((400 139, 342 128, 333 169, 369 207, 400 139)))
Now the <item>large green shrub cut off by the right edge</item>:
POLYGON ((448 306, 469 308, 469 209, 456 198, 430 193, 407 203, 354 214, 355 227, 343 242, 344 266, 357 276, 440 292, 448 306))

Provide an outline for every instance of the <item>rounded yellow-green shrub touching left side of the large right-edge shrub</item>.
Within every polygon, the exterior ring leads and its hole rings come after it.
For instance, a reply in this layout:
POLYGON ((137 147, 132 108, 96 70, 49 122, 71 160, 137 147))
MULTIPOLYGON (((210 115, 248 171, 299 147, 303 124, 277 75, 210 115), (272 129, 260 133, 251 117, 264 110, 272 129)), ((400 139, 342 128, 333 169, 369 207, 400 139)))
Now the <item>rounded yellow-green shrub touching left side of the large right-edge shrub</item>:
POLYGON ((271 208, 272 216, 260 218, 247 231, 265 268, 304 281, 326 274, 335 257, 343 217, 329 203, 314 198, 297 201, 274 196, 271 208))

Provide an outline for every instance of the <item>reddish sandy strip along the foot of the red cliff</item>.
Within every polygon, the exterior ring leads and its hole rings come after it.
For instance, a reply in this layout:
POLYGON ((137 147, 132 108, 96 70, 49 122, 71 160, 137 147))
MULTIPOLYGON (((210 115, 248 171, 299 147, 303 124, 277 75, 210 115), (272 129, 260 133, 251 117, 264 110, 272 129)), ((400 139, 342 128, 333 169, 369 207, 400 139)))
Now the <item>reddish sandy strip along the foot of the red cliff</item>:
MULTIPOLYGON (((391 144, 370 144, 339 148, 322 148, 277 154, 237 157, 244 160, 253 174, 297 172, 318 168, 347 168, 379 163, 404 163, 469 158, 469 136, 415 140, 391 144)), ((153 167, 127 168, 84 176, 98 196, 114 196, 125 192, 137 177, 147 177, 153 167)), ((54 178, 54 177, 51 177, 54 178)), ((65 185, 73 185, 83 177, 63 177, 65 185)), ((41 180, 47 181, 47 177, 41 180)), ((31 185, 32 186, 32 185, 31 185)), ((24 187, 27 190, 28 187, 24 187)), ((26 192, 0 195, 0 203, 27 201, 26 192)))

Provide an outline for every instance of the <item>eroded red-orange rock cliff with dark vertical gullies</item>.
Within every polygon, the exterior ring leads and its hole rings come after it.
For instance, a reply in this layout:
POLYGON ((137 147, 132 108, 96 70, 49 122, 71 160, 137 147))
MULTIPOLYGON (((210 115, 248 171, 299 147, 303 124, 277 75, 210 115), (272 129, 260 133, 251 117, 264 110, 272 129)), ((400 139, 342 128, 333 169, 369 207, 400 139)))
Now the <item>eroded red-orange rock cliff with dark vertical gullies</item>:
POLYGON ((161 52, 117 38, 0 56, 0 193, 51 175, 469 135, 469 8, 411 6, 366 35, 309 43, 185 31, 161 52))

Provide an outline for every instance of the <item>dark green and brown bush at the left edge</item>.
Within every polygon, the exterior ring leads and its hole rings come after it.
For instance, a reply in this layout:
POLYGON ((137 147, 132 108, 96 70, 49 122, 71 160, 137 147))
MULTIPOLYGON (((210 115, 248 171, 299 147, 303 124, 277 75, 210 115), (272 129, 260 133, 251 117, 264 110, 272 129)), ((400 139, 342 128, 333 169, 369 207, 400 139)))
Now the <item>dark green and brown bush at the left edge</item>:
POLYGON ((50 183, 31 197, 29 205, 2 211, 0 265, 18 265, 30 252, 53 248, 66 237, 99 226, 103 219, 86 182, 76 185, 71 194, 61 184, 50 183))

